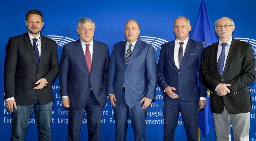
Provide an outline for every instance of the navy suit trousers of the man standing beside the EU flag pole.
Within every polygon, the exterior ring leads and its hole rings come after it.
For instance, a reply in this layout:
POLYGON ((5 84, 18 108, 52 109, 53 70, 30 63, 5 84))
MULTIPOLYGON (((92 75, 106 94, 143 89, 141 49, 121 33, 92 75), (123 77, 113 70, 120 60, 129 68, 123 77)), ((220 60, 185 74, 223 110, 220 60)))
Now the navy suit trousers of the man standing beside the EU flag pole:
POLYGON ((198 100, 164 99, 164 141, 174 141, 180 110, 188 141, 198 141, 198 107, 198 100))

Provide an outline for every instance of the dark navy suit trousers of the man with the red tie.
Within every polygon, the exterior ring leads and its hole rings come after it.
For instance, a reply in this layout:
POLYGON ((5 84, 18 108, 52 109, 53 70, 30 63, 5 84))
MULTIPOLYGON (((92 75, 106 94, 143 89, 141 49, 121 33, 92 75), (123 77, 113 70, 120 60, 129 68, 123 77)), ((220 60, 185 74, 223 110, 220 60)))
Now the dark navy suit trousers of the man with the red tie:
MULTIPOLYGON (((88 128, 88 141, 100 141, 103 106, 98 103, 92 90, 90 91, 85 110, 88 128)), ((84 109, 69 107, 68 111, 68 141, 80 141, 84 109)))

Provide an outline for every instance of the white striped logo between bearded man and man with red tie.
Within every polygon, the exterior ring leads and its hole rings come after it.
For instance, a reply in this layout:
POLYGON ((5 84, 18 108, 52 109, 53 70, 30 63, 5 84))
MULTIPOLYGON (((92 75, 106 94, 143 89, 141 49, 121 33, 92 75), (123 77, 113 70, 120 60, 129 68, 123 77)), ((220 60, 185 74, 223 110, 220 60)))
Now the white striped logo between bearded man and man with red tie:
POLYGON ((64 37, 64 36, 57 36, 57 35, 47 35, 46 37, 52 39, 53 41, 56 41, 56 43, 58 45, 58 58, 59 59, 60 59, 60 56, 61 56, 63 45, 75 41, 74 39, 64 37))

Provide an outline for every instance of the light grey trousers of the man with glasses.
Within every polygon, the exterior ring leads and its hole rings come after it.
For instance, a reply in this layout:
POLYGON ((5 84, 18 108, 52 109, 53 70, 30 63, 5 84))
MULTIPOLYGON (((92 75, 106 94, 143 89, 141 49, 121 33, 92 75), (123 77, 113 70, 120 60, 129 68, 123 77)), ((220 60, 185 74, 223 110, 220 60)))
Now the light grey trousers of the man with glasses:
POLYGON ((230 114, 226 107, 221 114, 213 113, 216 141, 231 141, 230 119, 235 141, 249 141, 250 112, 230 114))

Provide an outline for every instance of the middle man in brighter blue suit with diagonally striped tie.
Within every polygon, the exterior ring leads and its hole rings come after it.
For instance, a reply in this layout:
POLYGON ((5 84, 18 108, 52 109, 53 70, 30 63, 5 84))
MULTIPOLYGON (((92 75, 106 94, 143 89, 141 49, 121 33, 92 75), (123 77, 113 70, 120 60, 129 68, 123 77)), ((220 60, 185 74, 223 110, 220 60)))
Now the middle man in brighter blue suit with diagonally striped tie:
POLYGON ((114 44, 107 93, 114 107, 115 141, 125 141, 130 115, 135 141, 146 141, 145 119, 156 96, 157 74, 154 48, 138 39, 140 26, 128 20, 126 40, 114 44))

